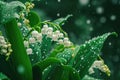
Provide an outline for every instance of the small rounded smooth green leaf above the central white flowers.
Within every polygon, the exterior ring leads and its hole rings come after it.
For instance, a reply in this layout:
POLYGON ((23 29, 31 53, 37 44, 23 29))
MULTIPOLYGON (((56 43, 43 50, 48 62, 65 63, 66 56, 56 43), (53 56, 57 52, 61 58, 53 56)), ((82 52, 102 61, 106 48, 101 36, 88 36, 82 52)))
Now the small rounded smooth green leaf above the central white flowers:
POLYGON ((33 11, 29 12, 27 18, 30 21, 31 27, 34 27, 36 29, 37 25, 41 26, 40 25, 41 20, 36 12, 33 12, 33 11))

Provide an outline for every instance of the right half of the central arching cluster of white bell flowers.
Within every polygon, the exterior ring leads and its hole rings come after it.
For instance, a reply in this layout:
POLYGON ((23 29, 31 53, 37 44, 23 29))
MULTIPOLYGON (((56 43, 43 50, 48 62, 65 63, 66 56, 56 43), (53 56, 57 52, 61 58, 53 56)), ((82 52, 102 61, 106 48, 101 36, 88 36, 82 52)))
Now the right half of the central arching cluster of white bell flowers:
POLYGON ((68 37, 64 37, 64 34, 59 30, 54 31, 52 27, 48 27, 48 25, 43 25, 41 29, 41 33, 43 35, 47 35, 47 37, 51 38, 52 41, 56 41, 58 44, 63 44, 65 47, 70 47, 71 42, 68 37))

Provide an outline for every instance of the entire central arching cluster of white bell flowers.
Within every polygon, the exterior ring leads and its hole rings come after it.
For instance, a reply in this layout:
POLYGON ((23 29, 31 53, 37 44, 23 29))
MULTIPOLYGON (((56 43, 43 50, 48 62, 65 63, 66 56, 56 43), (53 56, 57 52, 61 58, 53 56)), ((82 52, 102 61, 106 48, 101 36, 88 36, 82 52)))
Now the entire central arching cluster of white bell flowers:
POLYGON ((64 37, 63 33, 61 33, 59 30, 54 31, 54 29, 52 27, 48 27, 48 25, 43 25, 40 32, 33 30, 28 40, 24 41, 24 46, 26 47, 26 52, 28 54, 33 53, 29 45, 36 42, 41 43, 43 36, 51 38, 52 41, 55 41, 57 44, 62 44, 65 47, 71 46, 71 42, 67 37, 64 37))

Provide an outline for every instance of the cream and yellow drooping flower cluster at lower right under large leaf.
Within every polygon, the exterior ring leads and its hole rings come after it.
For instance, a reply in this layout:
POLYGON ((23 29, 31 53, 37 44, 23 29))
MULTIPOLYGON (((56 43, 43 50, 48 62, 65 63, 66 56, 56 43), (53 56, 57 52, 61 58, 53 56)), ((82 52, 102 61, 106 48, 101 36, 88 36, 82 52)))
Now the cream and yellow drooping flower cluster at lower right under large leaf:
POLYGON ((89 69, 89 74, 95 73, 94 68, 97 68, 97 69, 101 70, 102 72, 107 73, 108 76, 110 76, 110 70, 107 67, 107 65, 104 64, 104 61, 102 61, 102 60, 94 61, 94 63, 92 64, 92 66, 89 69))

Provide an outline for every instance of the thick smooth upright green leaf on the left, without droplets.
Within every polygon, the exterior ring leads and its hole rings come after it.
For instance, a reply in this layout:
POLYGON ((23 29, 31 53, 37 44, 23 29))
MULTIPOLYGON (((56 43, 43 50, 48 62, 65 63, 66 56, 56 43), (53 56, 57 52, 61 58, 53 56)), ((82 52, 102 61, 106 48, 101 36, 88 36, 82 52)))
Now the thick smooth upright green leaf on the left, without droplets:
POLYGON ((10 56, 10 64, 12 68, 12 80, 32 80, 32 66, 26 53, 22 34, 17 21, 12 19, 4 26, 7 38, 12 45, 13 52, 10 56))

